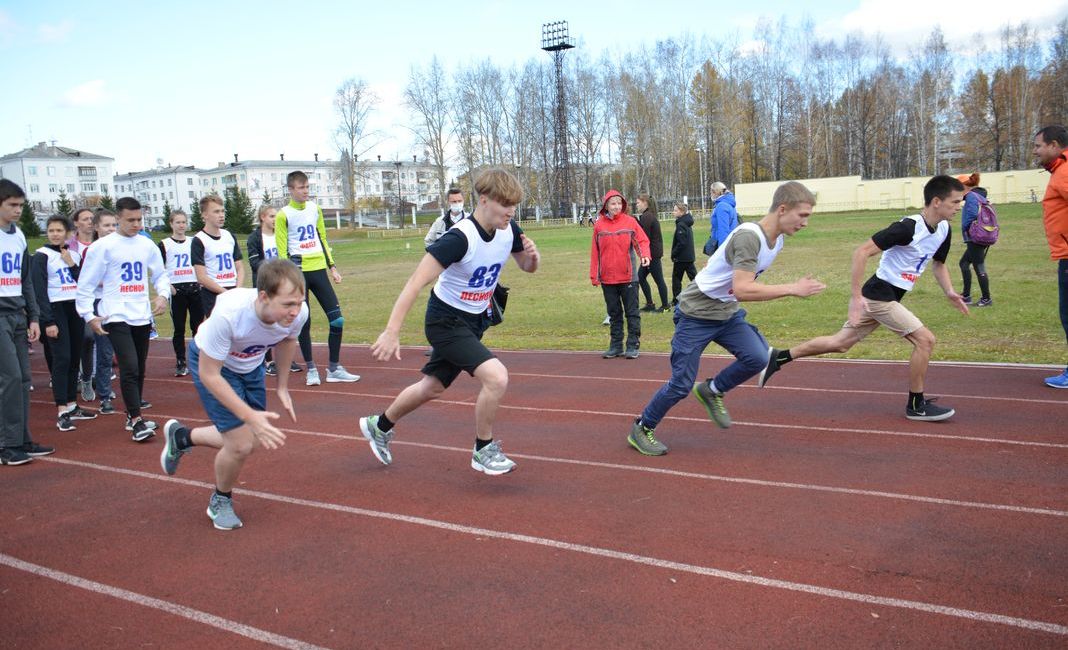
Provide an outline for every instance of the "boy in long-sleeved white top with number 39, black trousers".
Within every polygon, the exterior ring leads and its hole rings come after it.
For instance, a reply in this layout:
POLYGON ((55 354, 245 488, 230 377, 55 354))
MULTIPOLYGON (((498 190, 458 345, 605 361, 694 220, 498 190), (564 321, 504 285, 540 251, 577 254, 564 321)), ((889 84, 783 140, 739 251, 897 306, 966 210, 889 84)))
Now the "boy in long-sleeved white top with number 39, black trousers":
MULTIPOLYGON (((78 314, 97 334, 107 334, 119 358, 119 385, 126 408, 126 430, 135 442, 154 435, 155 423, 141 417, 152 405, 143 399, 152 316, 163 313, 171 299, 171 283, 159 249, 141 231, 141 204, 132 196, 115 202, 117 229, 93 242, 85 253, 78 282, 78 314), (148 280, 156 297, 148 297, 148 280), (100 300, 94 311, 94 292, 100 300)), ((109 359, 110 361, 110 359, 109 359)), ((110 372, 110 368, 108 370, 110 372)), ((99 368, 97 372, 100 372, 99 368)))

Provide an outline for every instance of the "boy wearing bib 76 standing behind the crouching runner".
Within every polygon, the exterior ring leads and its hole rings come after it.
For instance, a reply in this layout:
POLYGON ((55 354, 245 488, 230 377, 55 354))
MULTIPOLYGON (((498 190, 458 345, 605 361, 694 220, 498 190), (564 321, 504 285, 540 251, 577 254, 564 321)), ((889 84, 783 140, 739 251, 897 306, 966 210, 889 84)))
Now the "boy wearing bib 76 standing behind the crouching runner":
POLYGON ((204 228, 197 233, 190 251, 197 282, 201 284, 204 317, 211 315, 215 300, 223 291, 245 284, 245 267, 238 264, 241 249, 230 231, 222 227, 226 211, 218 194, 200 201, 204 228))

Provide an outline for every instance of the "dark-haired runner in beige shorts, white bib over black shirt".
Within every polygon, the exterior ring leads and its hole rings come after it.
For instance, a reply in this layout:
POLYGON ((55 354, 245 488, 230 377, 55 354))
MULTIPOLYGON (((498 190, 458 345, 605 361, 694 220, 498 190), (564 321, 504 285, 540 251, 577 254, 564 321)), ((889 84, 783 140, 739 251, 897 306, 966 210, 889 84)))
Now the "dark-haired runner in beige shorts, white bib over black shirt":
POLYGON ((953 409, 924 397, 924 381, 934 349, 934 334, 901 304, 901 299, 931 265, 934 280, 949 303, 960 313, 968 314, 968 305, 953 289, 953 280, 945 267, 952 240, 949 220, 960 209, 963 197, 964 186, 952 176, 934 176, 928 180, 924 186, 924 209, 918 215, 906 217, 879 231, 853 251, 849 316, 842 329, 836 334, 818 336, 789 350, 772 348, 768 365, 760 372, 759 385, 763 387, 779 368, 795 359, 845 352, 882 324, 912 344, 905 416, 924 422, 952 417, 953 409), (862 285, 868 258, 880 252, 879 268, 862 285))

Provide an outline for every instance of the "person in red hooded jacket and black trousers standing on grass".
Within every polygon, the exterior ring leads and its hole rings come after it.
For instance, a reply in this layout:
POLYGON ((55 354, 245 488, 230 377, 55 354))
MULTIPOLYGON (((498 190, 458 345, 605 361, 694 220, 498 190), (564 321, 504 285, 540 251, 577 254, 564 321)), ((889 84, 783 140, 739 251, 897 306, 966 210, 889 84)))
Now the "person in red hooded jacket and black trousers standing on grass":
POLYGON ((604 193, 590 249, 590 281, 600 285, 608 306, 611 343, 604 359, 638 359, 642 318, 638 313, 638 266, 649 266, 649 238, 627 213, 627 200, 615 190, 604 193), (623 318, 627 317, 627 348, 623 318))

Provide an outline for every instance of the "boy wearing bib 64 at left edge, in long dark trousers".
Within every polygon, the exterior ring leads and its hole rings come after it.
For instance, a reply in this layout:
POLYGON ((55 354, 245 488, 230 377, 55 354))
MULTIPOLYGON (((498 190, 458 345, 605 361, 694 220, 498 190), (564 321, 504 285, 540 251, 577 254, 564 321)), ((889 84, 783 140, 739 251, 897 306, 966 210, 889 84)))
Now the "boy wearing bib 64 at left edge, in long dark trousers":
POLYGON ((54 454, 30 437, 30 355, 28 343, 41 336, 37 301, 30 278, 26 236, 18 218, 26 192, 0 178, 0 464, 21 465, 54 454))

